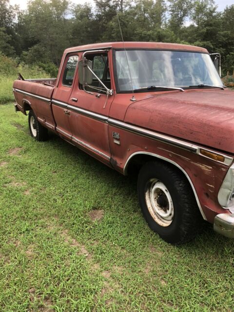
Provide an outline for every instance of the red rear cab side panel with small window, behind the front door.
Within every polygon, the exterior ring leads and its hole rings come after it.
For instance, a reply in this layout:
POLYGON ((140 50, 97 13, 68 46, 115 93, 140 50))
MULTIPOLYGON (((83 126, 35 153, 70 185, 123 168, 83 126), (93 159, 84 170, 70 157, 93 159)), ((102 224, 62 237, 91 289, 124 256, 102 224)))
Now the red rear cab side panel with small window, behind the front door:
POLYGON ((75 72, 78 64, 78 55, 67 55, 63 62, 63 68, 59 77, 59 83, 55 87, 52 106, 56 121, 56 130, 63 137, 72 138, 72 131, 69 123, 70 111, 67 109, 74 84, 75 72))

